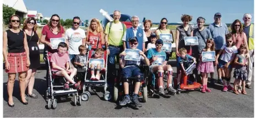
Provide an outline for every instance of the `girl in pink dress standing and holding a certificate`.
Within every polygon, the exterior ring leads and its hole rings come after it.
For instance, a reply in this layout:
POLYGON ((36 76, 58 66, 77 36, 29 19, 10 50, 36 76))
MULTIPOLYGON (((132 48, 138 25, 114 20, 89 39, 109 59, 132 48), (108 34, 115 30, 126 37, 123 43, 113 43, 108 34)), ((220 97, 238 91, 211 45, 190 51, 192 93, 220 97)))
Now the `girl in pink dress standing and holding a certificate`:
MULTIPOLYGON (((202 50, 202 52, 210 52, 215 50, 215 43, 213 39, 208 39, 206 41, 206 47, 202 50)), ((207 87, 207 81, 208 81, 208 74, 210 72, 214 72, 214 64, 213 61, 201 61, 202 55, 200 55, 200 62, 198 65, 198 71, 201 72, 202 75, 202 85, 203 88, 201 89, 202 93, 205 92, 211 92, 211 89, 207 87)))

